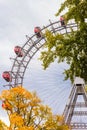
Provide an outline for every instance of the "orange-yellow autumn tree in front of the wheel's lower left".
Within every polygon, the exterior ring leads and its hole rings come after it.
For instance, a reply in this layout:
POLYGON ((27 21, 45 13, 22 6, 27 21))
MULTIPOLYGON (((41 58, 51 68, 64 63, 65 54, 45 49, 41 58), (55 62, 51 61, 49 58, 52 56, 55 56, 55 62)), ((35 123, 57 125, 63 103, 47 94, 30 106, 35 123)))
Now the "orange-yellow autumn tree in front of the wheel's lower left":
POLYGON ((35 92, 18 86, 3 90, 0 98, 4 101, 2 107, 7 111, 10 121, 10 126, 5 130, 69 130, 63 124, 63 117, 54 116, 35 92))

